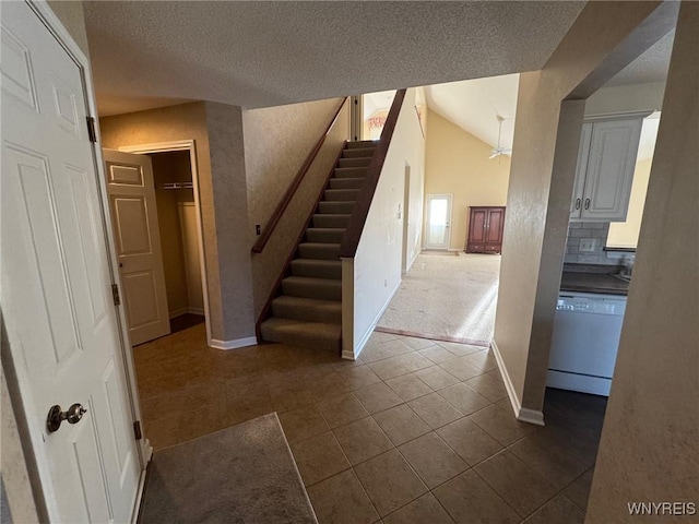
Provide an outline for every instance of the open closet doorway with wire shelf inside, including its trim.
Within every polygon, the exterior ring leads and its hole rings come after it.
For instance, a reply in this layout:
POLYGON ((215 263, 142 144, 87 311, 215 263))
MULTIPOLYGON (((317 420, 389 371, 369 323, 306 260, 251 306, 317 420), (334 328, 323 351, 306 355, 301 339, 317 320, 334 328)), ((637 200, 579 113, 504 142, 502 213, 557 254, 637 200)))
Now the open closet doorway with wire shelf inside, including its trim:
POLYGON ((205 323, 211 344, 199 178, 193 140, 119 147, 151 158, 170 332, 205 323))

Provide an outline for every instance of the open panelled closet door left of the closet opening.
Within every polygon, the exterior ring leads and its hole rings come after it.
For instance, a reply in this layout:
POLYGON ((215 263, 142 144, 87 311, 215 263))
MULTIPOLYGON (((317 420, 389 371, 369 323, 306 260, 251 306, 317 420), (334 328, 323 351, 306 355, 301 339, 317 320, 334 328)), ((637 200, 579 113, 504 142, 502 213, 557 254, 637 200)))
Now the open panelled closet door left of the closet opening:
POLYGON ((151 158, 104 150, 131 345, 170 332, 151 158))

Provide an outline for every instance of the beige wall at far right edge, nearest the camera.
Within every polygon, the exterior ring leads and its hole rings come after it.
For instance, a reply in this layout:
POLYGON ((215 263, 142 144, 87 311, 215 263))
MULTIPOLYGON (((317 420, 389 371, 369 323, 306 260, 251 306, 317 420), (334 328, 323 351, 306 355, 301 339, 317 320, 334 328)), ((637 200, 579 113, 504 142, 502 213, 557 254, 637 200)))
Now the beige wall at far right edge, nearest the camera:
MULTIPOLYGON (((683 2, 585 522, 628 502, 699 504, 699 4, 683 2)), ((699 511, 699 508, 697 509, 699 511)))

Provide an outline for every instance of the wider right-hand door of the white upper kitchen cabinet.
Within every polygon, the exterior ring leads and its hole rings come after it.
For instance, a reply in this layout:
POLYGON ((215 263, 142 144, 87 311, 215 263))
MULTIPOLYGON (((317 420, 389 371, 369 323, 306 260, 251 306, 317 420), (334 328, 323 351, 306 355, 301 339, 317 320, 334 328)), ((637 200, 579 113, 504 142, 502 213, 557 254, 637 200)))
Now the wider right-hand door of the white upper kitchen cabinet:
POLYGON ((582 201, 583 221, 626 219, 641 123, 641 119, 630 119, 593 124, 582 201))

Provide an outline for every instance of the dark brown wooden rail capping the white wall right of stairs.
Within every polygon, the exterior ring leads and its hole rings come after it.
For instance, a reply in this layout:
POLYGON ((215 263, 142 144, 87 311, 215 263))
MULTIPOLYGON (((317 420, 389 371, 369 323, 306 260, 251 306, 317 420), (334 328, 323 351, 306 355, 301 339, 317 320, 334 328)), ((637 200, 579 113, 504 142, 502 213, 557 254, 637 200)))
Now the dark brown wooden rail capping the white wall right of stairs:
POLYGON ((386 155, 389 151, 389 144, 393 138, 398 117, 401 112, 401 108, 403 107, 405 92, 406 90, 399 90, 393 98, 391 110, 386 119, 386 124, 383 124, 383 131, 381 131, 381 139, 374 151, 369 168, 367 169, 367 176, 362 184, 359 196, 357 198, 357 203, 352 212, 352 217, 350 218, 350 224, 347 225, 345 235, 342 237, 342 243, 340 245, 340 258, 352 259, 357 252, 362 231, 364 230, 364 225, 367 222, 369 207, 371 206, 374 193, 376 192, 376 187, 379 183, 379 177, 381 176, 386 155))

